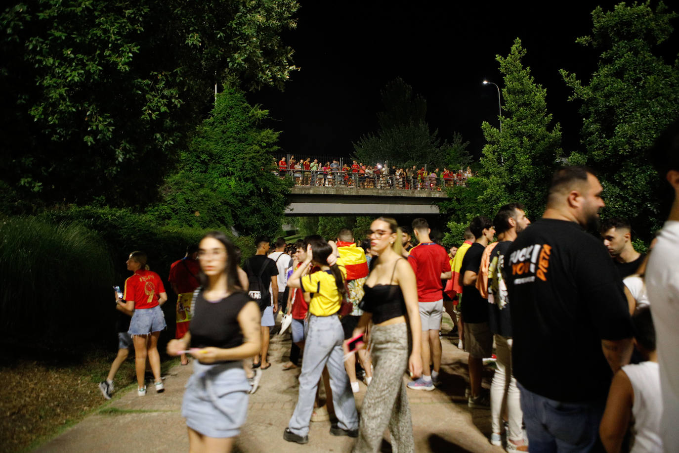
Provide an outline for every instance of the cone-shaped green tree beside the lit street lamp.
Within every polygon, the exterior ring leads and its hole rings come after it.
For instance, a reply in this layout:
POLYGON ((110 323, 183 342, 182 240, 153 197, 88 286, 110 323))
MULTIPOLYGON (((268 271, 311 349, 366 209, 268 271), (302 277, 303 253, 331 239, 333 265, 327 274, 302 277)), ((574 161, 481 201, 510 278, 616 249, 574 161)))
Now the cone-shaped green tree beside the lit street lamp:
POLYGON ((526 50, 515 39, 507 57, 496 56, 504 77, 502 132, 488 122, 481 129, 487 141, 481 176, 487 186, 479 201, 492 212, 507 202, 526 205, 529 215, 541 215, 549 180, 561 155, 561 130, 547 113, 547 90, 536 84, 530 67, 521 62, 526 50))

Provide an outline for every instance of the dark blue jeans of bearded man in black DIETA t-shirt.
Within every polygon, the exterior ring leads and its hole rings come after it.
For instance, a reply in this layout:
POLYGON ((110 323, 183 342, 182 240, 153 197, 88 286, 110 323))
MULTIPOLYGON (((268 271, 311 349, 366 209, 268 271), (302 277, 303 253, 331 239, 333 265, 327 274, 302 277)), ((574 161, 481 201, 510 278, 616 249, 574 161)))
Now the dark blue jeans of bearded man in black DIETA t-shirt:
POLYGON ((531 453, 604 451, 599 424, 605 397, 587 403, 562 403, 526 390, 520 383, 518 386, 531 453))

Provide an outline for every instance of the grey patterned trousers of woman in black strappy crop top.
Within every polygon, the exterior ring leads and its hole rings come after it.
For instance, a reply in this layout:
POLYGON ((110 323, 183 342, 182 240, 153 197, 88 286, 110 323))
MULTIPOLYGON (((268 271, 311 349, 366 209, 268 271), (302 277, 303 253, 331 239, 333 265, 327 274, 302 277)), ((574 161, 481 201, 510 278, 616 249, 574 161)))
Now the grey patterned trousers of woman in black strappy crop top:
POLYGON ((413 424, 403 382, 410 350, 407 324, 373 326, 370 335, 375 371, 363 399, 359 440, 353 451, 378 452, 388 428, 392 452, 413 452, 413 424))

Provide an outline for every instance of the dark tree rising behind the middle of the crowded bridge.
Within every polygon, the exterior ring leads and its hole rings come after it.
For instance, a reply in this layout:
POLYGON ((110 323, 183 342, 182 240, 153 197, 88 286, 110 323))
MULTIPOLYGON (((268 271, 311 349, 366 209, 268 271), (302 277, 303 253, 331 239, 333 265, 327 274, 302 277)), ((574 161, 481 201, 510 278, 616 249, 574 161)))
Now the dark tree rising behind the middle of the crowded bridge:
POLYGON ((443 165, 438 131, 430 132, 425 121, 426 100, 400 77, 380 92, 384 111, 378 113, 378 132, 365 134, 354 143, 356 160, 390 165, 443 165))

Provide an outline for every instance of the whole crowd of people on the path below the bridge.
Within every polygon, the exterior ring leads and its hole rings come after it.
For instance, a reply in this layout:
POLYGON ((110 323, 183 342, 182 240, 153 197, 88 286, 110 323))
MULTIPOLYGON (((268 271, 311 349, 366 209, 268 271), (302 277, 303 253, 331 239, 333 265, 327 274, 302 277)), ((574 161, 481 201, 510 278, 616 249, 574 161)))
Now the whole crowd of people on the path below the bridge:
MULTIPOLYGON (((182 322, 167 351, 194 366, 182 404, 191 451, 232 448, 249 394, 272 366, 279 312, 292 337, 282 367, 301 360, 283 439, 307 443, 310 422, 332 413, 330 433, 356 438, 354 452, 378 452, 385 431, 394 451, 414 451, 407 388, 432 391, 441 380, 443 311, 469 353, 467 404, 490 410, 490 443, 508 452, 678 451, 679 123, 655 153, 676 198, 646 254, 634 249, 627 219, 606 219, 600 237, 587 232, 605 204, 593 171, 579 166, 555 172, 540 219, 532 223, 521 202, 505 204, 493 219, 474 217, 448 250, 425 219, 399 226, 378 217, 359 242, 347 228, 293 247, 259 237, 241 268, 225 234, 206 234, 170 270, 182 322), (483 359, 493 355, 488 391, 483 359)), ((129 321, 100 383, 105 397, 130 346, 138 395, 147 359, 163 391, 156 345, 167 296, 146 261, 130 254, 132 276, 115 296, 129 321)))

